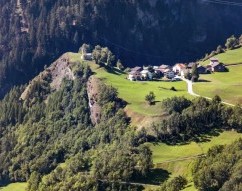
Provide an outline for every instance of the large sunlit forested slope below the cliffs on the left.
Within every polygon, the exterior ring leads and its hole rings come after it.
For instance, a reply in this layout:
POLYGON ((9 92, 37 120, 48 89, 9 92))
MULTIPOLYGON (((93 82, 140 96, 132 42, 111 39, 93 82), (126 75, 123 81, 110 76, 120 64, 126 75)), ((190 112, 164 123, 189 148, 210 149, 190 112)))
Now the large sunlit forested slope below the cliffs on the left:
POLYGON ((146 176, 153 164, 150 149, 129 127, 117 90, 102 82, 96 94, 102 113, 97 124, 91 122, 92 71, 69 64, 74 79, 63 77, 58 90, 51 87, 52 64, 27 89, 15 87, 0 102, 0 185, 28 181, 28 191, 138 190, 114 183, 146 176))

